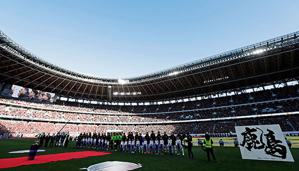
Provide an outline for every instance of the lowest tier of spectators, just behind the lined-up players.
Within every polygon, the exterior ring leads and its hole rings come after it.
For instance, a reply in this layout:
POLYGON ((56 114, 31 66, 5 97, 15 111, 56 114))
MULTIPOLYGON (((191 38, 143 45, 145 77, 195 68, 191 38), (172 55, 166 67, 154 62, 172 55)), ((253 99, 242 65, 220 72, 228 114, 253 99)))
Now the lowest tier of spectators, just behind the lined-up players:
POLYGON ((169 125, 83 125, 83 124, 60 124, 60 123, 47 123, 47 122, 26 122, 14 120, 0 120, 0 134, 24 134, 26 136, 37 135, 42 132, 57 133, 59 131, 69 132, 72 136, 77 136, 80 132, 100 132, 106 133, 108 130, 122 130, 124 132, 139 132, 145 134, 150 130, 160 130, 160 132, 177 133, 191 133, 191 134, 205 134, 213 133, 215 136, 219 134, 232 134, 235 133, 235 126, 247 125, 269 125, 279 124, 282 131, 298 131, 299 117, 289 116, 283 118, 267 118, 267 119, 251 119, 251 120, 230 120, 219 122, 201 122, 190 124, 169 124, 169 125), (288 123, 292 123, 295 130, 288 123))

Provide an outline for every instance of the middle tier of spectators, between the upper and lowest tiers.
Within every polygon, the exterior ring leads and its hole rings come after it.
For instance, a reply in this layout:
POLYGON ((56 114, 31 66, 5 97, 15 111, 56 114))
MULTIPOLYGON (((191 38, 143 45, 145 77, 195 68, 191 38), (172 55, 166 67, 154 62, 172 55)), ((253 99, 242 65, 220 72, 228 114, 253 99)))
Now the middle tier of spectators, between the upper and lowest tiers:
POLYGON ((212 108, 198 111, 185 111, 162 114, 114 115, 114 114, 82 114, 75 112, 58 112, 30 108, 0 105, 0 115, 49 119, 58 121, 87 121, 104 123, 139 123, 163 122, 194 119, 224 118, 234 116, 261 115, 269 113, 295 112, 299 109, 299 100, 284 100, 271 103, 259 103, 234 107, 212 108))

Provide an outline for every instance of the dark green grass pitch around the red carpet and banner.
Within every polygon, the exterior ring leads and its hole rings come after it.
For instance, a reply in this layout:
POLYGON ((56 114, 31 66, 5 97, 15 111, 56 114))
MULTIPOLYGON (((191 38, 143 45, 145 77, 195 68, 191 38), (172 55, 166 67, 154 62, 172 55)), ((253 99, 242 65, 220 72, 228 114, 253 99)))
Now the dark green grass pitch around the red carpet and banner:
MULTIPOLYGON (((34 139, 2 139, 0 140, 0 159, 25 157, 28 154, 8 154, 8 152, 28 150, 33 143, 34 139)), ((90 150, 75 149, 74 142, 71 142, 67 149, 43 147, 40 149, 44 149, 46 152, 38 152, 37 155, 90 150)), ((123 161, 142 164, 143 167, 137 171, 299 171, 299 149, 291 149, 291 152, 295 162, 255 161, 242 160, 239 148, 214 147, 217 163, 207 163, 206 153, 203 152, 200 147, 193 148, 195 160, 187 159, 187 150, 185 150, 184 157, 111 152, 113 153, 111 155, 20 166, 0 169, 0 171, 82 171, 79 169, 88 168, 91 165, 106 161, 123 161)))

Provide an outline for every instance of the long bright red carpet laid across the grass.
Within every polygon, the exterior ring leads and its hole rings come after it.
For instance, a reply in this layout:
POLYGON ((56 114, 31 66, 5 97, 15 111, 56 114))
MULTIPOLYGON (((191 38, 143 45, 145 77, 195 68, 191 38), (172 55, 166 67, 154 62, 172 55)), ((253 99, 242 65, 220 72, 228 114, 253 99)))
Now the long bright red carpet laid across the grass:
POLYGON ((102 156, 102 155, 109 155, 109 154, 111 153, 85 151, 85 152, 59 153, 54 155, 36 156, 34 161, 27 161, 27 157, 0 159, 0 169, 12 168, 12 167, 17 167, 22 165, 33 165, 33 164, 43 164, 43 163, 56 162, 56 161, 66 161, 70 159, 79 159, 79 158, 102 156))

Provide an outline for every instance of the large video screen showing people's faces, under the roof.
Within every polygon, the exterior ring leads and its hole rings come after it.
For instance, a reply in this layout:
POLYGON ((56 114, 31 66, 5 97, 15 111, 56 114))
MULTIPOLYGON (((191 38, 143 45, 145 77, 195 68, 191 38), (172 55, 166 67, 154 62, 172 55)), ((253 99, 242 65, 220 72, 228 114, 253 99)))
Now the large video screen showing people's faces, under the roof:
POLYGON ((48 93, 17 85, 7 84, 2 91, 2 96, 37 103, 53 103, 55 93, 48 93))

